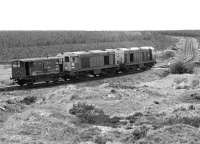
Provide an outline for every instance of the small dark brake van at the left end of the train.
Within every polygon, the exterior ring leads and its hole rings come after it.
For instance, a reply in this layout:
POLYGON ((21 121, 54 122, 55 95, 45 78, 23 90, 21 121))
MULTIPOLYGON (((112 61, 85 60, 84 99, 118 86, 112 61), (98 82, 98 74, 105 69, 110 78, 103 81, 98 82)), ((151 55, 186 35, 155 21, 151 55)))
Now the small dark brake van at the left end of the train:
POLYGON ((59 58, 18 59, 11 62, 12 77, 17 84, 32 84, 41 81, 56 81, 60 73, 59 58))

